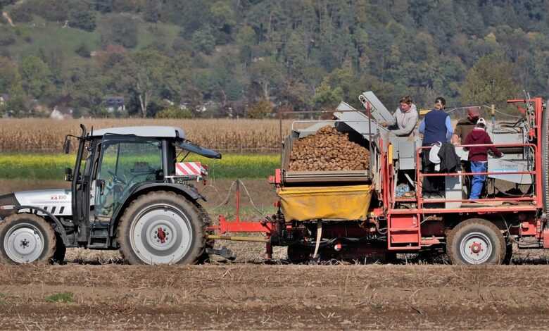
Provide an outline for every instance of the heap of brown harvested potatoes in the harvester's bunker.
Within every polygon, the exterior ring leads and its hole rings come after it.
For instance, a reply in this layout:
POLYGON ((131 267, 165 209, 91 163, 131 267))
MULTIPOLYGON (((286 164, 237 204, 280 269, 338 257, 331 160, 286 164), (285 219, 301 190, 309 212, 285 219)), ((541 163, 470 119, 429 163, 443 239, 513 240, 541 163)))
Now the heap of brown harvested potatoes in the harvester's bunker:
POLYGON ((294 141, 289 170, 365 170, 369 164, 370 151, 349 141, 348 134, 325 126, 315 135, 294 141))

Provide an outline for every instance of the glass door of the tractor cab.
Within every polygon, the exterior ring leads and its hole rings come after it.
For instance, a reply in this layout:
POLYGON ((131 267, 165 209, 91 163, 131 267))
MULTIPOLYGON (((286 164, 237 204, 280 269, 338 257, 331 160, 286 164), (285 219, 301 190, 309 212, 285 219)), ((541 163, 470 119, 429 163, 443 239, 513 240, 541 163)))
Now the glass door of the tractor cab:
POLYGON ((96 220, 109 222, 132 187, 163 180, 162 149, 158 140, 103 139, 95 180, 96 220))

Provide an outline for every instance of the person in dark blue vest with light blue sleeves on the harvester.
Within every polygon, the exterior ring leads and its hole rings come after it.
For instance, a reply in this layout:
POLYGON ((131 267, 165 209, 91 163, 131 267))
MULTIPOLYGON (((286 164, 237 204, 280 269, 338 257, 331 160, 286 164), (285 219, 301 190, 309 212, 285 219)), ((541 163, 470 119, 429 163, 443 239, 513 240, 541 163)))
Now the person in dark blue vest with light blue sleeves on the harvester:
MULTIPOLYGON (((453 135, 453 127, 450 116, 444 111, 446 99, 438 96, 435 99, 434 109, 427 113, 419 123, 419 133, 423 135, 422 146, 433 146, 450 142, 453 135)), ((422 153, 423 172, 434 173, 434 165, 429 164, 429 149, 422 153)), ((444 192, 444 177, 424 177, 422 192, 426 195, 442 196, 444 192)))

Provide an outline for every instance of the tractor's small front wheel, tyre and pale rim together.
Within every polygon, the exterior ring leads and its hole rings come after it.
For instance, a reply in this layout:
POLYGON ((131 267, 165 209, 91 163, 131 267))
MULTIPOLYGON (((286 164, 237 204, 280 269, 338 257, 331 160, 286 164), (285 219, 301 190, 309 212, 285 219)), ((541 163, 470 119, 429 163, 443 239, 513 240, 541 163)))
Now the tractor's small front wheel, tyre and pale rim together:
POLYGON ((40 216, 20 213, 0 223, 0 262, 49 262, 56 251, 56 233, 40 216))

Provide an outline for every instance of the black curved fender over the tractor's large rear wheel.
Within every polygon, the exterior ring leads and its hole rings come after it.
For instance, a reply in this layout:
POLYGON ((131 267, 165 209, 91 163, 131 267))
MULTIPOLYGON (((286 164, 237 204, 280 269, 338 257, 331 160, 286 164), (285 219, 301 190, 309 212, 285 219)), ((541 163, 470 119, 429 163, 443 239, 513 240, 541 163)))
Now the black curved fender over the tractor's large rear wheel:
POLYGON ((127 199, 124 201, 124 203, 120 204, 118 209, 113 213, 113 221, 111 222, 111 228, 109 229, 109 233, 111 234, 111 236, 115 234, 115 229, 118 225, 118 219, 120 218, 120 216, 122 216, 122 213, 124 213, 125 209, 127 208, 127 206, 130 205, 132 200, 134 200, 137 196, 141 194, 160 190, 182 194, 184 196, 187 196, 193 202, 198 199, 206 201, 206 198, 202 194, 198 193, 198 190, 189 185, 165 182, 149 182, 142 185, 137 185, 132 189, 132 192, 127 196, 127 199))

